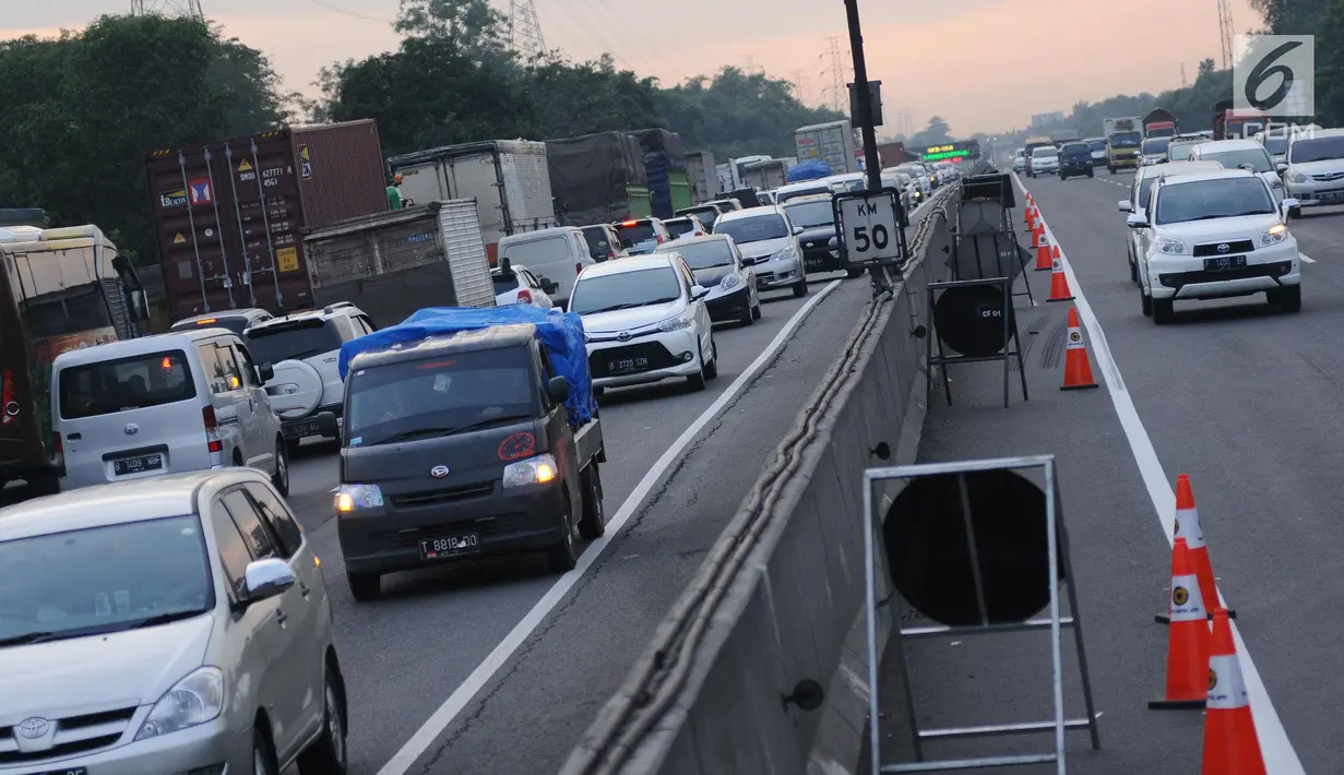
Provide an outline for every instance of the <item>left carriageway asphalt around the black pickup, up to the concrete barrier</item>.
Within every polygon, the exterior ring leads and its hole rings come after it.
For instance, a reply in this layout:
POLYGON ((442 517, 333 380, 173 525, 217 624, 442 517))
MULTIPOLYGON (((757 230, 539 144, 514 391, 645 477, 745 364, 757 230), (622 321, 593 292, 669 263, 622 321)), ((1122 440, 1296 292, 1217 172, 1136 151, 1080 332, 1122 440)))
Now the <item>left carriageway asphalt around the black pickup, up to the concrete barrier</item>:
POLYGON ((300 450, 289 504, 340 627, 352 774, 559 768, 853 328, 871 287, 840 277, 813 275, 802 300, 763 297, 753 326, 718 328, 708 390, 664 383, 601 399, 607 536, 563 578, 540 557, 480 561, 384 576, 380 599, 355 603, 331 508, 337 450, 300 450))

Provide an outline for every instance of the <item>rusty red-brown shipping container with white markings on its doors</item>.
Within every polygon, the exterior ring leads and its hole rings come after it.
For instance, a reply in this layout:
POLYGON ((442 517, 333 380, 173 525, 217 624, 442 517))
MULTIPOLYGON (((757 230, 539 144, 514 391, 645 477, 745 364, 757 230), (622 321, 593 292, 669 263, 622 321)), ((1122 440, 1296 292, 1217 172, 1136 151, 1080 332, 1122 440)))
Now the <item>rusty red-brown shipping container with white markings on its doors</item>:
POLYGON ((387 211, 371 120, 156 150, 145 169, 172 320, 312 306, 302 230, 387 211))

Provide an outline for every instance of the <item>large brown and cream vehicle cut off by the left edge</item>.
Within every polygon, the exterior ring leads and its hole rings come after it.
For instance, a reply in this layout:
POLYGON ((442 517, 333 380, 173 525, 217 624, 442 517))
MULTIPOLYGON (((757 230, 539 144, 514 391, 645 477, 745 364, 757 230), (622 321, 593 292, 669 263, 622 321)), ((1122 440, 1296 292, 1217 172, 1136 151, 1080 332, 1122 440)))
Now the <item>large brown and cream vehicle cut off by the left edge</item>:
POLYGON ((133 338, 148 320, 130 262, 97 226, 0 228, 0 488, 51 494, 65 474, 51 434, 51 361, 133 338))

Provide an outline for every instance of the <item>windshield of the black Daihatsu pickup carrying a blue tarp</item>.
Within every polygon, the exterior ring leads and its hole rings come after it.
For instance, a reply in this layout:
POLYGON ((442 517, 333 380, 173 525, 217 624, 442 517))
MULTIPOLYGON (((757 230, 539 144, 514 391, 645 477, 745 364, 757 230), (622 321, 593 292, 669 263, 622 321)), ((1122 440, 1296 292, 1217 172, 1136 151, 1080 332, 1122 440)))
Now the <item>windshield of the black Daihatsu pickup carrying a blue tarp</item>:
POLYGON ((345 380, 345 437, 368 447, 531 418, 536 384, 526 347, 358 368, 345 380))

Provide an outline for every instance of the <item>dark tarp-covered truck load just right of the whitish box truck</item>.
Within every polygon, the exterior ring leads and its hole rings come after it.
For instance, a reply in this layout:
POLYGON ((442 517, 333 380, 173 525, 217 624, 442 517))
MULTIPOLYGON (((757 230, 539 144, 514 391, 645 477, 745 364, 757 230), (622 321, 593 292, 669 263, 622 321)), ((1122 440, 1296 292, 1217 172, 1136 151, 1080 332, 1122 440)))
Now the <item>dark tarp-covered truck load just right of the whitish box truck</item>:
POLYGON ((555 216, 562 226, 649 218, 648 177, 640 141, 599 132, 546 141, 555 216))

